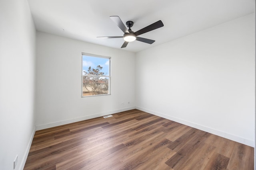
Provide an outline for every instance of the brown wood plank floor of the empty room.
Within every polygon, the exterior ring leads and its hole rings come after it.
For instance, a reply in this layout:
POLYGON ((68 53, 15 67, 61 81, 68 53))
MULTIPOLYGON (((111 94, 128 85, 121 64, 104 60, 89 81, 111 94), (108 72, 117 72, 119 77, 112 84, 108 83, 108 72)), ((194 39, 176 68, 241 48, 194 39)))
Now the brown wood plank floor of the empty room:
POLYGON ((253 170, 254 148, 134 109, 36 131, 39 169, 253 170))

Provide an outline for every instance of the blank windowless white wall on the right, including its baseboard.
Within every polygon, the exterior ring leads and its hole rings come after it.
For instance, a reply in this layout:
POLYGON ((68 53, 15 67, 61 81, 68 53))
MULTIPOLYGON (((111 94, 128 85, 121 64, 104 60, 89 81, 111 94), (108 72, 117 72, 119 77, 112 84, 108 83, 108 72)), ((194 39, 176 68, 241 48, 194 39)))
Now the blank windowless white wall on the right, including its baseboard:
POLYGON ((254 14, 136 53, 135 63, 136 108, 254 146, 254 14))

